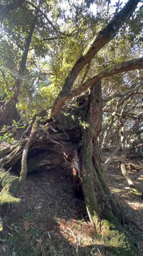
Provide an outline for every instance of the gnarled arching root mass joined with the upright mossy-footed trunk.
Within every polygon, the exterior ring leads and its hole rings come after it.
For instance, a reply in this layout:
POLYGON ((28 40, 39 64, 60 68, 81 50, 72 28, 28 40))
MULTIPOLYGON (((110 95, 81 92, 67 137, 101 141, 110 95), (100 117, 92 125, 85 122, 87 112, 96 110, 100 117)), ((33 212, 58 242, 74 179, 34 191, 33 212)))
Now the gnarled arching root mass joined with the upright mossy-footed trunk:
MULTIPOLYGON (((99 85, 101 86, 100 81, 98 82, 99 85)), ((114 250, 116 255, 121 254, 122 250, 125 252, 123 255, 132 255, 132 253, 136 255, 132 241, 126 236, 112 213, 116 213, 118 218, 120 210, 115 204, 104 180, 98 154, 96 140, 101 128, 101 90, 99 90, 98 86, 96 87, 95 84, 92 88, 89 99, 90 104, 87 102, 86 108, 83 106, 81 113, 79 113, 78 109, 80 118, 83 116, 83 124, 87 125, 84 129, 76 109, 75 118, 72 121, 72 114, 70 119, 66 114, 62 114, 59 118, 60 120, 54 121, 52 124, 51 119, 50 121, 47 119, 47 113, 46 117, 45 115, 37 116, 31 126, 30 135, 25 140, 21 140, 14 145, 13 152, 9 150, 8 154, 3 157, 5 168, 11 165, 13 171, 17 169, 19 173, 21 170, 21 173, 20 178, 11 175, 4 177, 3 190, 0 192, 0 202, 1 204, 20 202, 20 199, 14 198, 14 196, 25 180, 27 171, 40 170, 42 166, 44 169, 52 168, 54 162, 58 165, 62 161, 64 162, 65 159, 72 168, 76 169, 80 176, 80 186, 83 188, 90 221, 94 224, 96 230, 102 233, 106 244, 109 246, 115 244, 115 247, 119 248, 118 251, 114 250), (87 111, 86 118, 85 111, 87 111), (45 157, 44 161, 42 155, 45 157), (31 168, 31 164, 34 168, 31 168), (11 177, 10 185, 8 177, 11 177), (3 193, 7 196, 5 197, 3 193)), ((120 217, 118 220, 120 220, 120 217)))

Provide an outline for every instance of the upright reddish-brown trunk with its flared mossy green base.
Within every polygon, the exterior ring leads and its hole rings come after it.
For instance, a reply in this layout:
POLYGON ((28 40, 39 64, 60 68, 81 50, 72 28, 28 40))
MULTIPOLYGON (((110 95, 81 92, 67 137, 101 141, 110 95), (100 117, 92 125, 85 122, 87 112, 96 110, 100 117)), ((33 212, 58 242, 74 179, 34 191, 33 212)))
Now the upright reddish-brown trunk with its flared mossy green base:
POLYGON ((91 223, 109 246, 117 246, 119 252, 112 248, 113 255, 131 255, 135 253, 132 242, 128 239, 116 217, 120 212, 112 199, 104 179, 101 160, 98 154, 97 137, 101 130, 102 103, 101 81, 91 88, 80 149, 81 179, 87 212, 91 223), (116 245, 115 245, 116 244, 116 245), (125 245, 126 244, 126 245, 125 245), (121 249, 122 248, 122 249, 121 249))

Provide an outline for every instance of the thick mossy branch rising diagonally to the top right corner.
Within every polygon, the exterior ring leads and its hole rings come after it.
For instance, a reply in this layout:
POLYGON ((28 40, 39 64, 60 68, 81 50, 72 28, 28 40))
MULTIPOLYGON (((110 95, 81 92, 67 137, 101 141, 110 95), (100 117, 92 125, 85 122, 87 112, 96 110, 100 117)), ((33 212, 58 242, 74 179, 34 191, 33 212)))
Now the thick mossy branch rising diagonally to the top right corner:
MULTIPOLYGON (((83 67, 87 63, 89 63, 93 59, 93 57, 96 55, 96 53, 102 47, 104 47, 104 45, 106 45, 109 41, 112 40, 112 38, 115 37, 115 35, 119 31, 119 29, 123 26, 123 24, 133 14, 133 12, 135 11, 135 8, 139 2, 140 2, 140 0, 129 0, 126 3, 126 5, 123 7, 123 9, 121 9, 121 11, 118 12, 117 15, 115 15, 115 17, 107 24, 107 26, 105 26, 105 28, 103 30, 101 30, 98 33, 98 35, 93 38, 93 41, 90 42, 88 47, 85 49, 83 55, 76 61, 72 70, 68 74, 68 76, 64 82, 63 89, 56 98, 56 101, 53 106, 53 115, 54 116, 57 116, 59 114, 60 109, 64 103, 63 96, 66 97, 67 93, 69 91, 71 91, 73 83, 76 80, 77 76, 79 75, 80 71, 83 69, 83 67)), ((95 81, 97 81, 97 80, 95 80, 95 81)), ((91 85, 89 85, 89 86, 91 86, 91 85)), ((82 90, 82 91, 84 91, 84 90, 82 90)), ((76 95, 79 95, 80 93, 78 93, 76 95)))

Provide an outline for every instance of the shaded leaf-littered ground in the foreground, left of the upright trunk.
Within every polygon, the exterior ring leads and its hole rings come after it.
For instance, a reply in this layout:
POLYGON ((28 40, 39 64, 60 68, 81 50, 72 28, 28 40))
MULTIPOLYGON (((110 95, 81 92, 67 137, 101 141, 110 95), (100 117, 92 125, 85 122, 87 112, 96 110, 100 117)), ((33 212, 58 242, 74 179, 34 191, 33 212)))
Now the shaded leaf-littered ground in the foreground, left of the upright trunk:
POLYGON ((2 216, 0 255, 126 255, 123 248, 105 246, 101 234, 95 233, 66 169, 31 173, 19 197, 18 207, 5 209, 2 216))

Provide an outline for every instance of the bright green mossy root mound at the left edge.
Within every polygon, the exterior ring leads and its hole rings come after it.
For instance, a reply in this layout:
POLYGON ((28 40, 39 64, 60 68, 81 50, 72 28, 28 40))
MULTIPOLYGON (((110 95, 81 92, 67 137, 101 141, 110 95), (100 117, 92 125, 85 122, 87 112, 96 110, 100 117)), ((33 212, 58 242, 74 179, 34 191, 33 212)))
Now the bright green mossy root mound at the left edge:
MULTIPOLYGON (((0 178, 2 178, 4 172, 0 172, 0 178)), ((20 187, 19 178, 14 175, 6 175, 1 181, 0 186, 2 190, 0 192, 0 206, 4 204, 17 204, 20 203, 20 198, 15 198, 20 187)))

